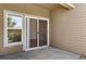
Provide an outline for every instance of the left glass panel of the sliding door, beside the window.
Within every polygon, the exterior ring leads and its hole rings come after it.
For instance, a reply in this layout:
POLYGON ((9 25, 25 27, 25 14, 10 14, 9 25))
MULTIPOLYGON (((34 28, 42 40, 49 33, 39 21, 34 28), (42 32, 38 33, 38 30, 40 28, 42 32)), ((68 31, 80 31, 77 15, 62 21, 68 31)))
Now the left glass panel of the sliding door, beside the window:
POLYGON ((29 18, 29 48, 37 47, 37 20, 29 18))

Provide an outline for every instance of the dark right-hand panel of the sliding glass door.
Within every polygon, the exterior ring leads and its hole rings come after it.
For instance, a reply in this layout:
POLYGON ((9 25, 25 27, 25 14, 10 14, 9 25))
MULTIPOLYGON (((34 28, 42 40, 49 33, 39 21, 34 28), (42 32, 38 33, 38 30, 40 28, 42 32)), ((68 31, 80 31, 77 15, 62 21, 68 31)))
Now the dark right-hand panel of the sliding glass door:
POLYGON ((47 21, 39 20, 39 46, 47 46, 47 21))

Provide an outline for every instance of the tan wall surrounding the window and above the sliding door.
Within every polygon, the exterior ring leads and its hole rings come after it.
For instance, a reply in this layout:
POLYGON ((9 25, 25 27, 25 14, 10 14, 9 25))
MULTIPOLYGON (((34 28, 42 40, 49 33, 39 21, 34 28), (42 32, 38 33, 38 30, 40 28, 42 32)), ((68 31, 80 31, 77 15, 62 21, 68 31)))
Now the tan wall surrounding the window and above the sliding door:
POLYGON ((0 55, 23 51, 22 46, 3 48, 3 10, 16 11, 20 13, 33 14, 42 17, 49 17, 49 11, 34 4, 0 4, 0 55), (28 7, 27 7, 28 5, 28 7))

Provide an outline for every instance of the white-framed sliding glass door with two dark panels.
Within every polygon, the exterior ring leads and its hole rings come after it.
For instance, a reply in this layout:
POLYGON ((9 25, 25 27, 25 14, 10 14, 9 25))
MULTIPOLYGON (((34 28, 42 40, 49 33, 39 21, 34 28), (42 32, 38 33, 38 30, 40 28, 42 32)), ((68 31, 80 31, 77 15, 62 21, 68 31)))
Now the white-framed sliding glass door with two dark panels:
POLYGON ((26 47, 39 48, 48 46, 48 21, 26 17, 26 47))

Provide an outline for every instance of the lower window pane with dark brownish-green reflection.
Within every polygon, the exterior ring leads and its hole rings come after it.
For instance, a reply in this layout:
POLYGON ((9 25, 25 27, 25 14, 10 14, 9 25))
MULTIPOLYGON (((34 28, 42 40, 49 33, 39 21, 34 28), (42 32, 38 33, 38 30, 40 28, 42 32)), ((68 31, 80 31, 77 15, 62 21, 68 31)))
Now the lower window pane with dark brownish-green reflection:
POLYGON ((21 29, 8 29, 9 43, 22 42, 22 30, 21 29))

